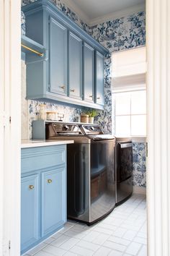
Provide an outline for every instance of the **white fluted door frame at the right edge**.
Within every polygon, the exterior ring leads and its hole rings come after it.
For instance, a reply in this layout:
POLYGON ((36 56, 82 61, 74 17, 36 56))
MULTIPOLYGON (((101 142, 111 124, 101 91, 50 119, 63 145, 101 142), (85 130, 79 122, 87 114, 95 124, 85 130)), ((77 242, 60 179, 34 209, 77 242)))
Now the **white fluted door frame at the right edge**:
POLYGON ((170 255, 170 1, 146 0, 148 255, 170 255))

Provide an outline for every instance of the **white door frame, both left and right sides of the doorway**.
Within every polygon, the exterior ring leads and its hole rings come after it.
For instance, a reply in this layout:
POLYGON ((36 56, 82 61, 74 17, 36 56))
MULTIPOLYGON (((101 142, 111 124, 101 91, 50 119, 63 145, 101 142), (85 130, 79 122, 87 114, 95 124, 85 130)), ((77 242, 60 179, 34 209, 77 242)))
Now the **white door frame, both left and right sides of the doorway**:
MULTIPOLYGON (((3 256, 20 255, 20 5, 20 0, 0 0, 0 255, 3 256)), ((146 0, 146 5, 148 256, 168 256, 170 1, 146 0)))

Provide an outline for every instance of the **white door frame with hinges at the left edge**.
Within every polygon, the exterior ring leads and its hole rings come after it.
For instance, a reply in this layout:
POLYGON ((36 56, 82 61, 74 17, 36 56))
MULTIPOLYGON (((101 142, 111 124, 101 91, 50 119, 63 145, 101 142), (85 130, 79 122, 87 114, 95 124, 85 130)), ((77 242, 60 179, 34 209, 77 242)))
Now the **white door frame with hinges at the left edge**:
POLYGON ((20 255, 20 0, 0 0, 0 255, 20 255))

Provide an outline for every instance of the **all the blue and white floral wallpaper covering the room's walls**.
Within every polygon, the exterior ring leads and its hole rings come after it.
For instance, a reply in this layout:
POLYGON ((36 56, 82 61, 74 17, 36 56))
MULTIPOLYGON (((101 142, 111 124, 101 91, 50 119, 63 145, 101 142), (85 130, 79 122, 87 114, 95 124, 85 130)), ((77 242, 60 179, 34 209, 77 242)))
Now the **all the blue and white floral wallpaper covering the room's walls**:
MULTIPOLYGON (((36 0, 22 0, 22 5, 30 4, 36 0)), ((125 50, 143 46, 146 44, 146 24, 145 12, 138 12, 128 17, 102 22, 99 25, 89 27, 79 17, 71 11, 60 0, 50 0, 58 9, 76 22, 81 28, 86 30, 92 37, 99 41, 104 47, 109 49, 109 53, 104 61, 104 111, 98 111, 97 121, 104 132, 112 133, 112 88, 111 88, 111 54, 113 51, 125 50)), ((24 15, 22 14, 22 33, 25 33, 24 15)), ((40 102, 28 101, 30 137, 33 119, 37 119, 37 111, 40 102)), ((47 108, 57 110, 65 114, 64 121, 76 121, 81 112, 86 108, 74 108, 59 104, 47 104, 47 108)), ((133 184, 135 186, 146 187, 146 150, 145 143, 133 144, 133 184)))

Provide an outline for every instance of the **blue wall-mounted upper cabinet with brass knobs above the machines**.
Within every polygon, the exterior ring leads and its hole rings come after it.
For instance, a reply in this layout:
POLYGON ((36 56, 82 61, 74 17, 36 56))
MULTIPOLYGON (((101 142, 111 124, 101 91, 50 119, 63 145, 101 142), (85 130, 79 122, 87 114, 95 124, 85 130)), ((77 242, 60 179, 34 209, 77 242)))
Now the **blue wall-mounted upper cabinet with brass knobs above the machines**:
POLYGON ((26 35, 43 47, 45 56, 27 63, 27 99, 61 101, 103 109, 102 91, 94 53, 108 53, 88 33, 63 14, 51 1, 37 0, 22 7, 26 35), (97 71, 97 75, 95 74, 97 71), (99 86, 99 88, 98 88, 99 86), (97 88, 95 88, 97 87, 97 88))

